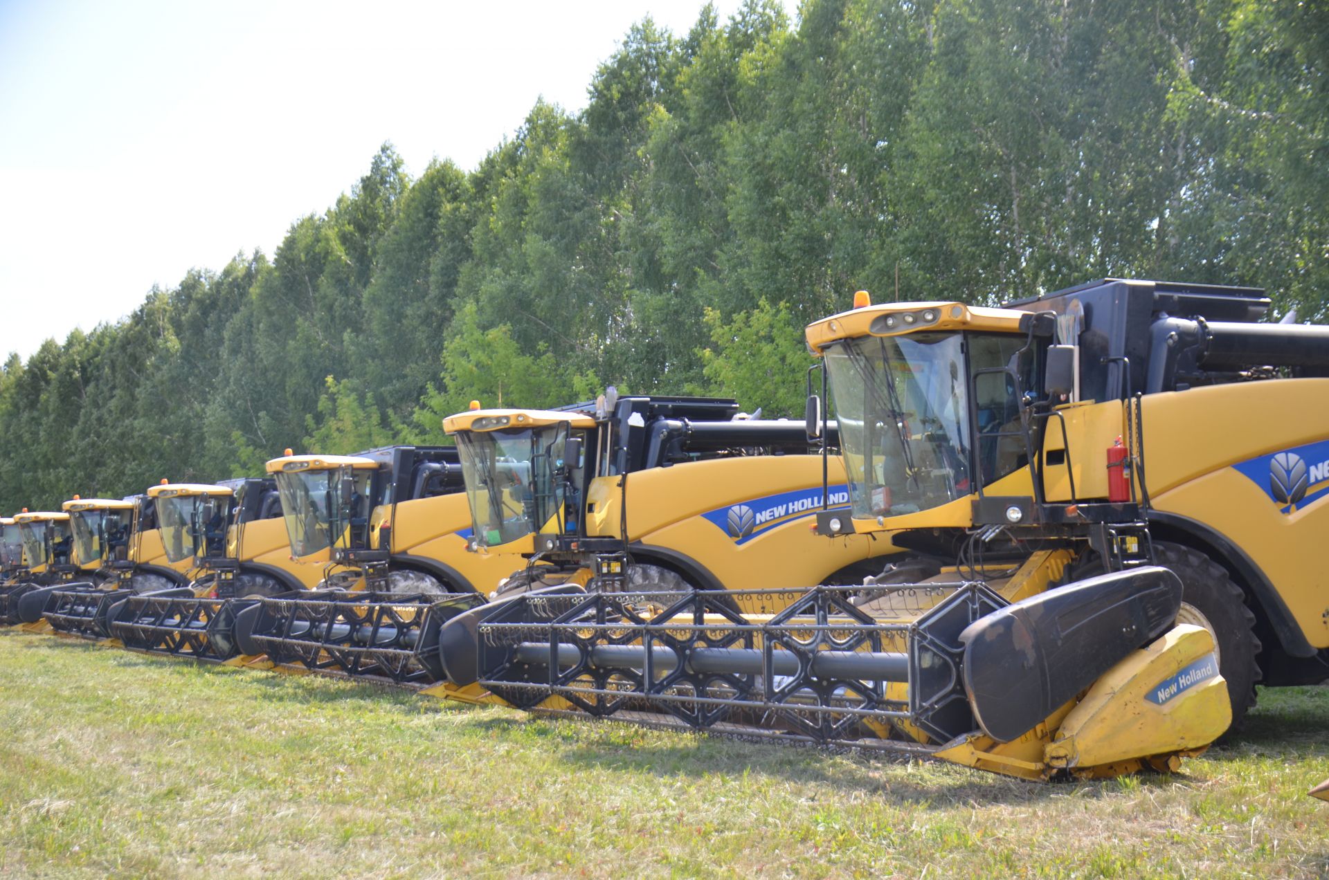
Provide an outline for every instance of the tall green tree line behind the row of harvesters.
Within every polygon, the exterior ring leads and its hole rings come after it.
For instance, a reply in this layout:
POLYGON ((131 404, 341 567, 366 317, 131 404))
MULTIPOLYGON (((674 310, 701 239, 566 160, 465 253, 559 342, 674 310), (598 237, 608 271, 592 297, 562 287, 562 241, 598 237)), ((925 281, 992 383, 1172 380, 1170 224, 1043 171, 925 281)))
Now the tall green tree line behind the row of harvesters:
POLYGON ((0 372, 0 510, 443 440, 472 399, 801 412, 804 323, 1095 276, 1329 318, 1329 13, 1296 0, 750 0, 633 27, 472 170, 391 145, 272 255, 0 372))

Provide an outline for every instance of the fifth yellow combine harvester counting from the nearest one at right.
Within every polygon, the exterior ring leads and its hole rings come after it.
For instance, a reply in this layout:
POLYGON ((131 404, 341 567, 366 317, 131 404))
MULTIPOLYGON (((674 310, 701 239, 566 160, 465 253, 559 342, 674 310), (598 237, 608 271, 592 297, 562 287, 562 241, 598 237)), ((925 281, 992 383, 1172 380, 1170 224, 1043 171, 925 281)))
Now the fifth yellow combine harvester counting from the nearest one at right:
POLYGON ((62 508, 70 517, 73 560, 88 580, 35 590, 23 600, 21 617, 40 614, 57 633, 110 638, 109 613, 125 598, 189 584, 190 561, 166 557, 146 496, 76 496, 62 508))

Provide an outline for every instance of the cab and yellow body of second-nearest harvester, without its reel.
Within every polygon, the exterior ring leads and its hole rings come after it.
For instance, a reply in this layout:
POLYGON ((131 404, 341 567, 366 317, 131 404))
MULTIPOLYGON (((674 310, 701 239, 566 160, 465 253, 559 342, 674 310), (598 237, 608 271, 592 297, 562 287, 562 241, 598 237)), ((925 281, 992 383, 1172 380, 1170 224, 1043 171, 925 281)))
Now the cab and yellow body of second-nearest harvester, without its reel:
MULTIPOLYGON (((720 590, 861 581, 889 541, 824 541, 808 525, 847 504, 844 467, 801 423, 736 417, 734 400, 619 396, 558 411, 473 409, 444 431, 461 452, 472 549, 521 572, 496 596, 553 584, 597 592, 720 590)), ((738 607, 760 597, 738 593, 738 607)))

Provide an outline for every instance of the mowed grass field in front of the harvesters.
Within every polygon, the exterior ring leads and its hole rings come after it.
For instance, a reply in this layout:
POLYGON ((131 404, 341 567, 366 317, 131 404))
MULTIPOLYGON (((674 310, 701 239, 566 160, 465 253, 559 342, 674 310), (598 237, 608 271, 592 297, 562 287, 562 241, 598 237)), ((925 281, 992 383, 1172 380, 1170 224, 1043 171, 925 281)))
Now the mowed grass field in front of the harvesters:
POLYGON ((1329 689, 1179 775, 530 719, 0 631, 0 875, 1318 876, 1329 689))

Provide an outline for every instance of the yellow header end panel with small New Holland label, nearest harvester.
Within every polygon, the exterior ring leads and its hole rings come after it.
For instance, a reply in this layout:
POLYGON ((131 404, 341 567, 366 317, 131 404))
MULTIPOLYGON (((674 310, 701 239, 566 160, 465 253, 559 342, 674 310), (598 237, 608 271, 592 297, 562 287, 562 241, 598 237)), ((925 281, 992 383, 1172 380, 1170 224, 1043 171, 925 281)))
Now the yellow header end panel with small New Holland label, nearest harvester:
POLYGON ((1094 767, 1199 750, 1232 723, 1213 638, 1180 625, 1094 682, 1047 746, 1051 767, 1094 767))

